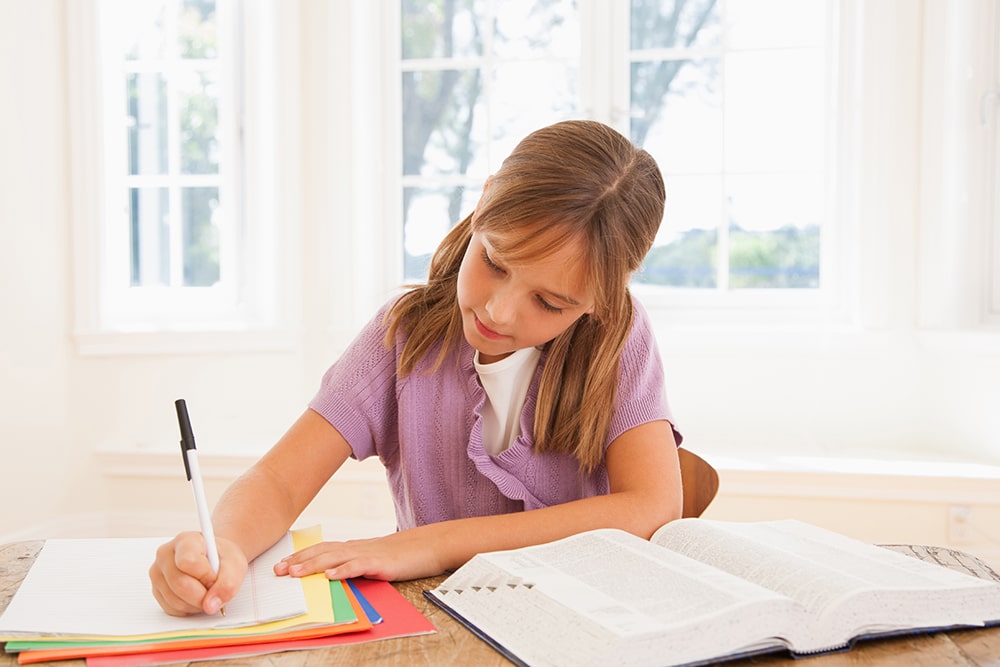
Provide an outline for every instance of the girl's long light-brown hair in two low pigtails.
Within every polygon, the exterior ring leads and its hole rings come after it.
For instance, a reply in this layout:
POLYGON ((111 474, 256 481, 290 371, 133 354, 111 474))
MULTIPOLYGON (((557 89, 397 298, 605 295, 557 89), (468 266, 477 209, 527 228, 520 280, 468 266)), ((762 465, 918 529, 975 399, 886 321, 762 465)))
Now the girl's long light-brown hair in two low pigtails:
POLYGON ((512 263, 582 241, 592 313, 546 345, 535 410, 539 452, 574 456, 585 472, 604 459, 618 385, 618 360, 632 326, 628 281, 663 218, 663 178, 652 156, 612 128, 565 121, 521 141, 469 215, 438 246, 427 283, 401 296, 387 318, 387 344, 407 334, 406 375, 435 346, 436 369, 462 340, 456 296, 473 232, 487 232, 512 263))

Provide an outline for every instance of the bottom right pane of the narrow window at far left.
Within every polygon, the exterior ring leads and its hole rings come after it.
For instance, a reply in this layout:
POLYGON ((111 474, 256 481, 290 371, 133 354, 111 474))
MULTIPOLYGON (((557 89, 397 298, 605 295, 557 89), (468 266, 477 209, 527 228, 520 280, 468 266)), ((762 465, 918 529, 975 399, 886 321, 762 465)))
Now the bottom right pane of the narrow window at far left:
POLYGON ((183 188, 184 284, 207 287, 219 281, 218 188, 183 188))

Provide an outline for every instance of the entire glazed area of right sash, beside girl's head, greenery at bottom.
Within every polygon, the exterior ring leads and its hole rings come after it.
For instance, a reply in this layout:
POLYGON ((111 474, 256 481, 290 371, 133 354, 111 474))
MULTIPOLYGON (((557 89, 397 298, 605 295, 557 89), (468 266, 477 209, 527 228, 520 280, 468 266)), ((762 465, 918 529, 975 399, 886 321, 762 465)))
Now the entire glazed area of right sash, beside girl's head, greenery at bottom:
POLYGON ((667 183, 636 280, 818 287, 825 0, 633 0, 630 21, 630 134, 667 183))

